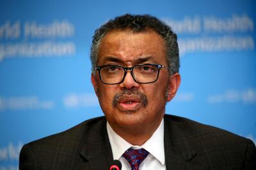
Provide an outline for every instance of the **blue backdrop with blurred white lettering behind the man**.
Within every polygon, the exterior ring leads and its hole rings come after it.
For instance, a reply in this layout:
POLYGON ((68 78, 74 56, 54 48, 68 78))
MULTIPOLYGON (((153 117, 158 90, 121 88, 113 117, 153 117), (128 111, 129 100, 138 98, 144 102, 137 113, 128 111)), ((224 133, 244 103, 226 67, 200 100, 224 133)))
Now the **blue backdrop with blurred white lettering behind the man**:
POLYGON ((0 1, 0 170, 23 144, 101 116, 90 44, 116 15, 149 13, 178 35, 182 84, 166 113, 256 141, 256 3, 0 1))

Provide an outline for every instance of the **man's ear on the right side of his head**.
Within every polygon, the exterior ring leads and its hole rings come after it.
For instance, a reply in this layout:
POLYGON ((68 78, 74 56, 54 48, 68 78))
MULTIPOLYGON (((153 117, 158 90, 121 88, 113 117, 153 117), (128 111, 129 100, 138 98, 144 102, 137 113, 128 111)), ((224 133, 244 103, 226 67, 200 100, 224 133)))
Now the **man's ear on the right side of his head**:
POLYGON ((174 73, 170 76, 168 85, 167 101, 170 102, 175 97, 180 86, 180 74, 174 73))

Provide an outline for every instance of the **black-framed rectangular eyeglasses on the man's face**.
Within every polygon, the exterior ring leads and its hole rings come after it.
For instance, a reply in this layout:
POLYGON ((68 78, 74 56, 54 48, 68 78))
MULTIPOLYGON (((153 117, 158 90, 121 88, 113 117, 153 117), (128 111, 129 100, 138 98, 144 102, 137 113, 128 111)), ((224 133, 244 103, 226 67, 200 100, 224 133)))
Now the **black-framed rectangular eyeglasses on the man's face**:
POLYGON ((143 64, 134 65, 132 67, 124 67, 119 65, 104 65, 97 66, 100 81, 104 84, 119 84, 124 81, 127 70, 131 70, 132 78, 138 83, 156 82, 161 68, 166 68, 163 65, 143 64))

